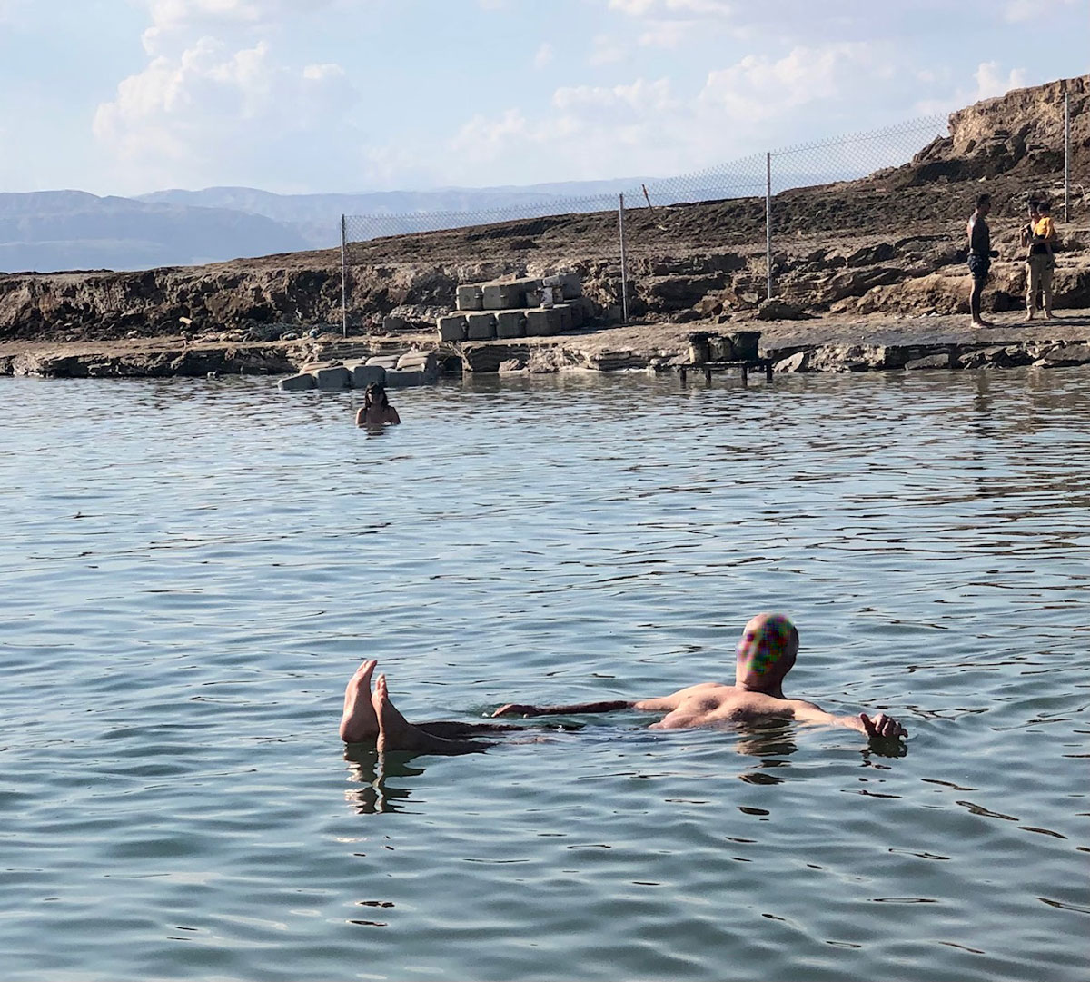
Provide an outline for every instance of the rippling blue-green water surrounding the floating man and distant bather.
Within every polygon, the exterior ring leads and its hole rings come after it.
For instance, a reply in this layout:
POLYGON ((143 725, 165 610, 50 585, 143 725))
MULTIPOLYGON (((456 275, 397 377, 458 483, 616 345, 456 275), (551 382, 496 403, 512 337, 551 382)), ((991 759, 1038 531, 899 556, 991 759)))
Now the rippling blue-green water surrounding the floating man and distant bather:
POLYGON ((1090 373, 0 380, 0 977, 1085 979, 1090 373), (731 676, 846 729, 533 720, 731 676))

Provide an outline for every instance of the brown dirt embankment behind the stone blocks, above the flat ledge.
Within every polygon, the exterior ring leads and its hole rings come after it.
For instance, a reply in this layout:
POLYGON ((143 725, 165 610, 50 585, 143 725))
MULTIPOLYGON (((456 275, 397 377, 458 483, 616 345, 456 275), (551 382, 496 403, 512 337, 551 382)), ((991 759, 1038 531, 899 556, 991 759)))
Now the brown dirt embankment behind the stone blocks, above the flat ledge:
MULTIPOLYGON (((786 303, 764 314, 806 318, 795 328, 804 334, 831 318, 888 326, 897 318, 964 312, 965 221, 983 189, 994 196, 993 238, 1001 251, 985 310, 1020 310, 1018 229, 1028 195, 1056 201, 1062 186, 1056 151, 1065 87, 1075 195, 1073 220, 1061 222, 1055 302, 1061 310, 1090 307, 1090 189, 1083 183, 1090 179, 1090 84, 1077 78, 954 113, 949 136, 905 167, 777 195, 773 279, 786 303)), ((434 316, 453 305, 458 283, 558 268, 578 271, 586 293, 608 312, 620 301, 616 223, 614 213, 553 216, 356 243, 350 250, 350 330, 377 343, 389 328, 383 319, 392 315, 407 342, 424 343, 434 316)), ((665 342, 678 325, 736 330, 762 316, 763 199, 638 208, 627 213, 626 231, 629 311, 649 339, 658 331, 665 342)), ((339 331, 341 316, 340 256, 334 251, 141 272, 0 275, 0 348, 7 351, 0 352, 0 371, 12 371, 12 352, 27 344, 100 348, 168 337, 177 350, 156 363, 164 374, 198 374, 205 362, 194 352, 216 344, 246 348, 253 371, 288 371, 275 367, 279 355, 258 357, 261 345, 287 335, 280 347, 288 352, 283 361, 292 361, 299 356, 292 335, 305 340, 316 326, 339 331)), ((207 371, 233 365, 227 359, 207 371)))

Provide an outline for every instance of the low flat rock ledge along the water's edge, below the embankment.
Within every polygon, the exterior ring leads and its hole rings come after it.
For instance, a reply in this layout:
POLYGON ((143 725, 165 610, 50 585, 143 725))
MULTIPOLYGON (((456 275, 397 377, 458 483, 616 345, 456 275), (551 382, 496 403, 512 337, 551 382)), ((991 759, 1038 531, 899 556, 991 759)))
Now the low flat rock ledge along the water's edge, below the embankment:
MULTIPOLYGON (((879 372, 927 368, 1063 367, 1090 363, 1090 310, 1066 311, 1028 323, 1006 314, 994 327, 972 329, 965 316, 837 317, 763 322, 761 357, 775 371, 879 372)), ((359 336, 327 332, 289 341, 241 336, 112 341, 0 342, 0 375, 120 378, 208 375, 288 375, 315 362, 416 349, 437 351, 446 375, 460 372, 676 371, 717 361, 740 325, 706 323, 623 325, 548 338, 439 344, 434 334, 359 336), (735 331, 732 335, 731 332, 735 331), (711 342, 711 345, 710 345, 711 342), (711 348, 711 351, 710 351, 711 348)))

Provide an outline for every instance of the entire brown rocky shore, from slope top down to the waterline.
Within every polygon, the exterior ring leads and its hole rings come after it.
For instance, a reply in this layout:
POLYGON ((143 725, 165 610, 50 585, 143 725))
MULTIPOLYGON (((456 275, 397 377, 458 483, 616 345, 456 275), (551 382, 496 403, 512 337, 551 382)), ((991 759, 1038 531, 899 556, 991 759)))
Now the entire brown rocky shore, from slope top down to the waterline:
POLYGON ((668 369, 699 364, 702 336, 753 330, 780 371, 1081 363, 1088 148, 1090 77, 979 102, 953 113, 949 135, 903 167, 777 194, 771 270, 762 198, 632 208, 623 298, 613 211, 351 243, 347 310, 331 251, 135 272, 0 274, 0 374, 274 375, 407 349, 438 350, 448 371, 668 369), (1059 317, 1027 324, 1019 231, 1030 195, 1059 201, 1065 96, 1074 185, 1069 220, 1059 223, 1059 317), (984 313, 996 326, 972 331, 965 221, 985 189, 1000 258, 984 313), (776 296, 763 300, 770 271, 776 296), (459 287, 550 272, 578 276, 604 323, 548 338, 437 340, 436 317, 456 306, 459 287), (622 299, 628 325, 617 323, 622 299))

